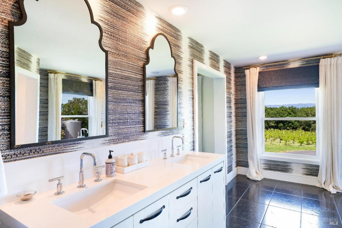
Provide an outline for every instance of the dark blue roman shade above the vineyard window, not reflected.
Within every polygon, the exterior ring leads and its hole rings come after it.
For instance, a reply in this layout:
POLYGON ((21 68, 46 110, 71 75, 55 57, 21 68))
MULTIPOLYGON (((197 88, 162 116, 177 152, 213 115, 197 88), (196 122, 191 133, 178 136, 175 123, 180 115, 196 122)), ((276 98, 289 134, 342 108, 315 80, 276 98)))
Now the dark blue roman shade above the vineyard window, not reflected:
POLYGON ((319 65, 259 72, 258 92, 319 87, 319 65))

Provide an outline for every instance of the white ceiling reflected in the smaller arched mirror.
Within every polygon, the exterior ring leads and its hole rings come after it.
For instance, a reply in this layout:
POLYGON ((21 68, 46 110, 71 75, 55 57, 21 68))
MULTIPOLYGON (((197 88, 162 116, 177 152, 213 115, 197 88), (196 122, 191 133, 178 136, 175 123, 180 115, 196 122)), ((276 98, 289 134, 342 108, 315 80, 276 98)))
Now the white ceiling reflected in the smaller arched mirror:
POLYGON ((155 39, 153 49, 149 50, 149 60, 146 65, 146 78, 175 75, 174 59, 165 37, 160 35, 155 39))

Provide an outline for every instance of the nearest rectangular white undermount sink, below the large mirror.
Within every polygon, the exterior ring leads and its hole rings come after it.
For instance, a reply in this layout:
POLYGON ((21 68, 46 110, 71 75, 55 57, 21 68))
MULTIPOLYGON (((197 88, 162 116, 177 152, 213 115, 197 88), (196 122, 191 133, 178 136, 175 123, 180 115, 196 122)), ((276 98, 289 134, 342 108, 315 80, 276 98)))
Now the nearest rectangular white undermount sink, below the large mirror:
POLYGON ((108 207, 115 206, 118 201, 147 188, 123 180, 114 180, 101 186, 74 193, 68 197, 61 198, 51 203, 63 209, 87 217, 108 207))

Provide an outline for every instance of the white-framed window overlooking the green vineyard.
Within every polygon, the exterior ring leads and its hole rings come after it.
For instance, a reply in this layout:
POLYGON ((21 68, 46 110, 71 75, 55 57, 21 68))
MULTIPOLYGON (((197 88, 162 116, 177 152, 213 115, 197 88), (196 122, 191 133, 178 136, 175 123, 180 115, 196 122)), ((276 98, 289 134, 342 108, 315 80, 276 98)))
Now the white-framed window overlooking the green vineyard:
POLYGON ((316 164, 318 89, 259 92, 264 130, 261 158, 316 164), (261 94, 262 95, 262 94, 261 94))

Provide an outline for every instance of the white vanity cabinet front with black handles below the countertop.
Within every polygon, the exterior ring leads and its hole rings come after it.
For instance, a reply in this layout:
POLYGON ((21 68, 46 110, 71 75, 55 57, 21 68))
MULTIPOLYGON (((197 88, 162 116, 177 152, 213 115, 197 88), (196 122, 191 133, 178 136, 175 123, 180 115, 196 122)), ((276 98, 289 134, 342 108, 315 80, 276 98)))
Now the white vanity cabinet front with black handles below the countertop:
POLYGON ((224 228, 224 163, 190 180, 113 228, 224 228))

